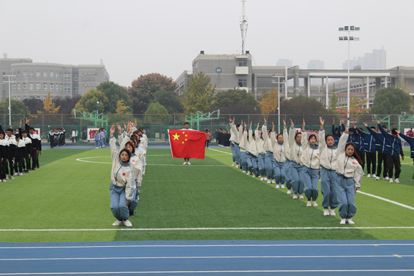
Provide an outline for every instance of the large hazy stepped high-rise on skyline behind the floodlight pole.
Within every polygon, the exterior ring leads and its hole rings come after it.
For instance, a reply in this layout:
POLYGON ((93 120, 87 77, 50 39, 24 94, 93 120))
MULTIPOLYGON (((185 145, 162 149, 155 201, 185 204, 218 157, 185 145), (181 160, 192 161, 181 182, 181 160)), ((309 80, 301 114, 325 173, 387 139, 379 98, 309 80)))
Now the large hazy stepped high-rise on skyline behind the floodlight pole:
MULTIPOLYGON (((362 70, 385 70, 386 69, 386 50, 373 50, 373 52, 366 52, 364 57, 355 57, 349 61, 349 68, 361 66, 362 70)), ((348 69, 348 61, 342 63, 342 69, 348 69)))

